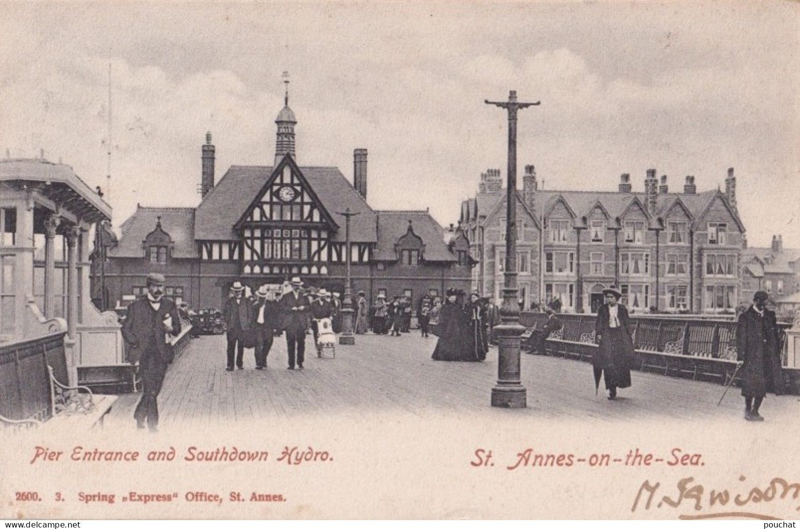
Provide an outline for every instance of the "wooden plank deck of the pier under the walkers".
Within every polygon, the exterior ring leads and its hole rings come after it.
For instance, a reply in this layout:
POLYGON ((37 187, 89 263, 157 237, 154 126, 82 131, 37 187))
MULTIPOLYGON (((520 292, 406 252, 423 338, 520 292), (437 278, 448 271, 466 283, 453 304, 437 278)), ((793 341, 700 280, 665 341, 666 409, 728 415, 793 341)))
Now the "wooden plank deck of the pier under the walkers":
MULTIPOLYGON (((268 368, 254 369, 251 349, 245 369, 226 372, 224 336, 201 336, 189 344, 167 373, 159 397, 162 429, 182 424, 233 425, 240 421, 303 416, 364 418, 382 414, 458 417, 541 417, 549 420, 636 421, 742 420, 742 397, 730 388, 717 406, 720 384, 633 372, 633 387, 617 401, 594 394, 590 364, 522 354, 522 384, 528 407, 490 407, 497 376, 497 348, 483 363, 435 362, 436 338, 418 332, 400 337, 367 334, 355 345, 338 345, 336 357, 318 359, 306 340, 305 369, 286 369, 286 340, 276 336, 268 368)), ((133 424, 139 394, 120 396, 106 428, 133 424)), ((800 412, 797 396, 768 396, 768 421, 790 420, 800 412)), ((743 421, 742 421, 743 422, 743 421)))

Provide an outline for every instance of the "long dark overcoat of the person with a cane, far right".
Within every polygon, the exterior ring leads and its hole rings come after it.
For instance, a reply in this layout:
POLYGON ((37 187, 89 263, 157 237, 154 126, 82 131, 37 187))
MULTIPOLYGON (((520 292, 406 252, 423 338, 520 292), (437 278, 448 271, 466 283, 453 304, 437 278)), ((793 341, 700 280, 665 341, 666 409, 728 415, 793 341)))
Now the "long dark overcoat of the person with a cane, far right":
POLYGON ((764 315, 752 306, 739 316, 736 349, 742 365, 742 395, 763 397, 766 392, 782 395, 781 341, 775 313, 768 308, 764 315))

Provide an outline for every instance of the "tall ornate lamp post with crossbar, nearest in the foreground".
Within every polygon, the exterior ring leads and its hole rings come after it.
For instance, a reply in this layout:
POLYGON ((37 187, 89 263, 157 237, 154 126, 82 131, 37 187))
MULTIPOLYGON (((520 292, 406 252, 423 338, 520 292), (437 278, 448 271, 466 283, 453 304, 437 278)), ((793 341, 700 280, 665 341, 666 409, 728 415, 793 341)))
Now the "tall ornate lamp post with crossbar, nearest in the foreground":
POLYGON ((506 272, 503 274, 503 300, 500 307, 502 324, 498 333, 498 382, 492 388, 492 406, 496 408, 525 408, 526 389, 522 386, 519 367, 520 336, 525 328, 519 324, 517 300, 517 111, 535 103, 517 101, 511 90, 508 101, 485 101, 487 105, 508 110, 508 181, 506 183, 506 272))

